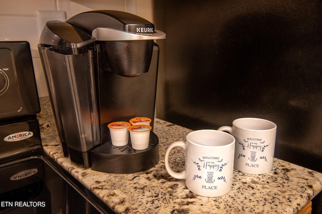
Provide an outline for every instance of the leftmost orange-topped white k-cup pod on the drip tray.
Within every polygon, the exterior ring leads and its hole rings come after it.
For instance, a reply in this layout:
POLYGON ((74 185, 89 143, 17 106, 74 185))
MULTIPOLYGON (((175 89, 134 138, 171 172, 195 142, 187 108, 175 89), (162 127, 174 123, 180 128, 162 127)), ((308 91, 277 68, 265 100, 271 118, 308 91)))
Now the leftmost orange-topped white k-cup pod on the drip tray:
POLYGON ((125 146, 129 140, 128 127, 131 124, 129 122, 118 121, 108 124, 111 134, 112 144, 114 146, 125 146))

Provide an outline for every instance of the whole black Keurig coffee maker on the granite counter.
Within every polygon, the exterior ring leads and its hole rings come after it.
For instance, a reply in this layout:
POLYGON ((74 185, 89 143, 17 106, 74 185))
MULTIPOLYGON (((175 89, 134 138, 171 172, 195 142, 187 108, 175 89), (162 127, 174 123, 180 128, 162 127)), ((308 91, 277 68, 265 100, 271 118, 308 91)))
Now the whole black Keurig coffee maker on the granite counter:
POLYGON ((159 160, 158 138, 134 150, 111 143, 108 124, 149 117, 154 122, 163 32, 125 12, 91 11, 46 23, 38 45, 64 155, 84 168, 132 173, 159 160))

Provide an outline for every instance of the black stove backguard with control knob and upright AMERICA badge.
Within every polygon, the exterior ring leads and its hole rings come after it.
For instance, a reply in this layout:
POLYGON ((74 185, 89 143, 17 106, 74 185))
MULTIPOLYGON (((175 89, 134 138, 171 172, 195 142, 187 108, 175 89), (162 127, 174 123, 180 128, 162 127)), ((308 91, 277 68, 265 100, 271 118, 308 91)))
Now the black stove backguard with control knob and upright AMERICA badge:
POLYGON ((29 150, 42 150, 36 118, 40 105, 28 42, 0 42, 0 103, 0 164, 29 150))

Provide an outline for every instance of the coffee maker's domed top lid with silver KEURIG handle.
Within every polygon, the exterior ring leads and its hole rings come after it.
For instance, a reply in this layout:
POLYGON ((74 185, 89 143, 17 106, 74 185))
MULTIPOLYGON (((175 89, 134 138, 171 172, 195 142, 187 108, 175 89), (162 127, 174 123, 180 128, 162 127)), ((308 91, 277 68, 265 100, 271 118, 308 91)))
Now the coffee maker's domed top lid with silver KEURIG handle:
POLYGON ((122 11, 89 11, 66 22, 92 34, 97 41, 166 39, 166 34, 156 31, 149 21, 122 11))

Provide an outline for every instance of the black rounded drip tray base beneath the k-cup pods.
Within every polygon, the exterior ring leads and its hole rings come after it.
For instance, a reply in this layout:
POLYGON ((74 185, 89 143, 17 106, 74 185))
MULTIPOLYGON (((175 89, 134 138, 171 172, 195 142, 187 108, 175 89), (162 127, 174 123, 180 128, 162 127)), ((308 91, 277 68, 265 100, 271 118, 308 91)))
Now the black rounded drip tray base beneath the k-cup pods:
POLYGON ((108 173, 134 173, 152 168, 159 161, 158 137, 150 132, 149 147, 135 150, 129 142, 125 146, 114 146, 112 141, 91 151, 91 168, 108 173))

